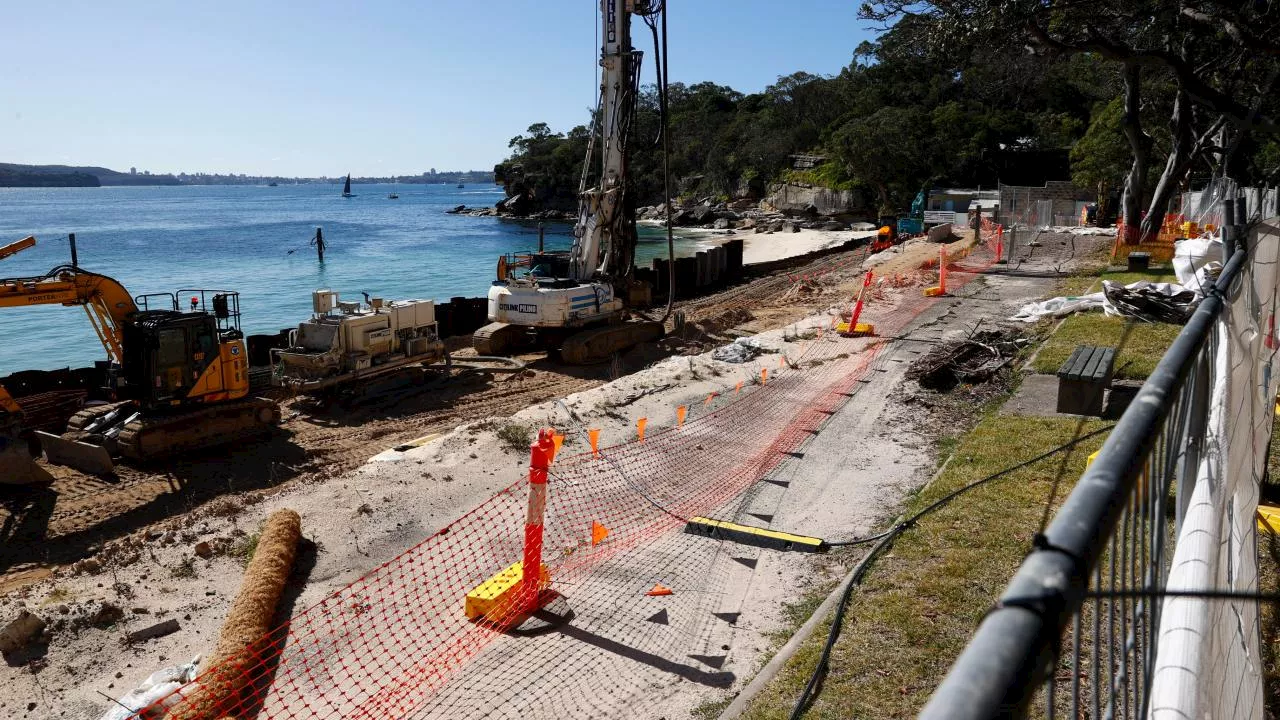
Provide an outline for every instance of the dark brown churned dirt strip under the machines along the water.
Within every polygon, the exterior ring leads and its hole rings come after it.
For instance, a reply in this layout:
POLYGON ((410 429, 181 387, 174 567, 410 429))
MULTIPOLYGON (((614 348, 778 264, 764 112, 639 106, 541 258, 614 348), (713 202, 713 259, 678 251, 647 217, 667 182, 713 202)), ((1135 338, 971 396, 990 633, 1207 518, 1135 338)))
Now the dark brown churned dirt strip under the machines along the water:
MULTIPOLYGON (((774 236, 754 237, 763 242, 774 236)), ((831 245, 831 238, 824 243, 831 245)), ((507 416, 668 355, 699 351, 726 329, 751 333, 780 327, 847 295, 854 273, 845 270, 856 268, 864 255, 865 249, 860 249, 797 261, 792 269, 680 302, 685 327, 676 328, 675 319, 668 320, 671 340, 631 351, 617 364, 570 366, 544 355, 526 355, 521 359, 527 370, 518 375, 467 374, 452 382, 429 377, 430 384, 421 387, 393 379, 351 407, 289 398, 279 432, 266 441, 147 468, 120 464, 109 479, 46 466, 55 477, 50 486, 0 486, 0 593, 47 578, 54 569, 90 557, 113 539, 180 520, 214 498, 338 477, 407 441, 480 418, 507 416), (815 279, 795 290, 801 277, 815 279), (384 392, 379 396, 378 391, 384 392)), ((458 360, 471 354, 465 338, 454 338, 453 346, 458 360)))

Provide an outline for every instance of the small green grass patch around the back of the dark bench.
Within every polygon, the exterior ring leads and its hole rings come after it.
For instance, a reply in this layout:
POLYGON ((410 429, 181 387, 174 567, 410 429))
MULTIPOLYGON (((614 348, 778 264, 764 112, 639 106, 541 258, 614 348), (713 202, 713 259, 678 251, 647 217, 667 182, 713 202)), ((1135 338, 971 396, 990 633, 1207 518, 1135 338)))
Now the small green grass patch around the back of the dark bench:
POLYGON ((1183 325, 1143 323, 1102 313, 1071 315, 1041 347, 1032 369, 1056 373, 1076 346, 1101 345, 1117 348, 1117 378, 1146 379, 1181 331, 1183 325))

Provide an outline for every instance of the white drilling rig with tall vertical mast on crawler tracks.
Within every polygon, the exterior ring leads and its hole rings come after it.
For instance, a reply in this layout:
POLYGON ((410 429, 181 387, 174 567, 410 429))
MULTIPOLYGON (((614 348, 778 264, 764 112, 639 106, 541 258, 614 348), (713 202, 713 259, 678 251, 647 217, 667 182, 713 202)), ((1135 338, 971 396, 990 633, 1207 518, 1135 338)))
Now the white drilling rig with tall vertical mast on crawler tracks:
MULTIPOLYGON (((635 287, 635 195, 627 177, 628 142, 640 90, 643 54, 631 46, 631 17, 662 12, 646 0, 602 0, 599 124, 585 165, 599 143, 599 182, 579 188, 572 250, 539 254, 517 277, 499 261, 489 288, 489 325, 476 331, 480 355, 502 355, 535 341, 562 360, 586 364, 663 336, 658 322, 630 319, 635 287)), ((641 292, 643 293, 643 292, 641 292)))

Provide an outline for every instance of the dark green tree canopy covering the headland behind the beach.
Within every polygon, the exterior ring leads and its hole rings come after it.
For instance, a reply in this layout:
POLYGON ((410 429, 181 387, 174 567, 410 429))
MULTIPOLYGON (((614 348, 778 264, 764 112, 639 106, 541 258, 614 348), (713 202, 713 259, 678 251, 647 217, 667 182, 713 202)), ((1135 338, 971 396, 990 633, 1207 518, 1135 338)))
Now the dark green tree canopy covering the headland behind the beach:
MULTIPOLYGON (((1192 173, 1276 174, 1280 145, 1257 133, 1280 110, 1275 72, 1260 76, 1280 58, 1265 40, 1280 22, 1245 5, 864 3, 863 17, 890 27, 851 49, 838 74, 795 72, 755 94, 673 83, 673 192, 758 197, 769 182, 809 182, 859 192, 874 211, 905 208, 922 186, 1071 177, 1102 195, 1125 187, 1135 217, 1192 173), (823 160, 794 169, 796 155, 823 160), (1148 172, 1160 155, 1165 170, 1148 172)), ((630 141, 640 202, 663 200, 659 120, 645 87, 630 141)), ((518 167, 543 205, 572 209, 588 145, 588 126, 561 135, 536 123, 503 167, 518 167)))

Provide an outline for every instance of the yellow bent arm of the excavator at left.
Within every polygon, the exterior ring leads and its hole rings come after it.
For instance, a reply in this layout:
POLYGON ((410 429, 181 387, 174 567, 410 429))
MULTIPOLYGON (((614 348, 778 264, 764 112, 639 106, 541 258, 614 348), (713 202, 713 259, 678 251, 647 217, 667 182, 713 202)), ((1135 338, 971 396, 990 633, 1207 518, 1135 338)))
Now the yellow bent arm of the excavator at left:
POLYGON ((118 364, 124 360, 124 320, 138 306, 118 281, 74 265, 54 268, 44 277, 0 279, 0 307, 31 305, 84 307, 108 359, 118 364))

